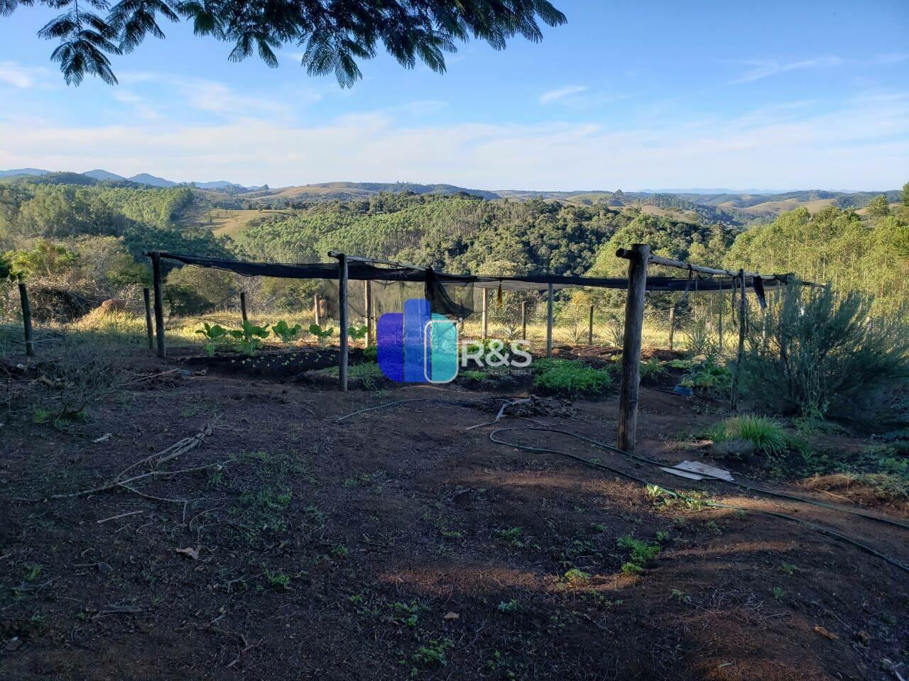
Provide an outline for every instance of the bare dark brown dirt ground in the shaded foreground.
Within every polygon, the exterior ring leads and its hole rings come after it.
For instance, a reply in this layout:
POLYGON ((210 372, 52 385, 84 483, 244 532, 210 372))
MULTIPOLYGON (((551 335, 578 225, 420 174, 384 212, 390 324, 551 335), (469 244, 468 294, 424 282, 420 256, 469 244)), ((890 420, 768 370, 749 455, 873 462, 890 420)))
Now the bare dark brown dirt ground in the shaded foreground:
MULTIPOLYGON (((170 373, 70 429, 8 419, 0 678, 909 677, 906 573, 757 511, 904 564, 909 530, 687 482, 550 432, 500 434, 746 510, 648 498, 634 480, 488 437, 543 422, 613 442, 614 399, 468 429, 502 398, 170 373), (206 426, 201 446, 162 456, 206 426), (628 536, 659 548, 638 572, 623 571, 628 536)), ((644 388, 638 452, 704 459, 692 436, 721 408, 644 388)))

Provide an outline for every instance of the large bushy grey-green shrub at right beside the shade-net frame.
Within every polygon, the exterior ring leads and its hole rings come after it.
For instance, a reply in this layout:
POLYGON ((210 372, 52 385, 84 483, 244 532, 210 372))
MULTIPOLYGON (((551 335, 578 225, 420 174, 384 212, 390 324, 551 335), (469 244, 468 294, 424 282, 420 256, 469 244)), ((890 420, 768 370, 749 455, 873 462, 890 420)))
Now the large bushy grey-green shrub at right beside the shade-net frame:
POLYGON ((754 315, 743 384, 775 411, 824 418, 850 398, 909 376, 909 326, 903 314, 872 316, 857 291, 786 287, 754 315))

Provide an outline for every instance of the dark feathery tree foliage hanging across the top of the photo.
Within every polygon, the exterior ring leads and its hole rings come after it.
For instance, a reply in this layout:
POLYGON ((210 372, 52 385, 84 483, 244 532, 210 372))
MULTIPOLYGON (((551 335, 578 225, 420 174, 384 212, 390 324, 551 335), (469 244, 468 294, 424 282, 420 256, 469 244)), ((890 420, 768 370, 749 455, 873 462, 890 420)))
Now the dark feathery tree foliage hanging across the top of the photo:
MULTIPOLYGON (((538 21, 564 24, 565 17, 548 0, 39 0, 63 11, 38 36, 59 44, 51 59, 60 64, 67 84, 85 74, 115 84, 108 55, 131 52, 146 35, 164 38, 160 17, 193 22, 195 35, 211 36, 234 47, 228 55, 239 62, 252 54, 271 67, 275 49, 285 44, 304 48, 302 64, 310 75, 334 73, 350 86, 361 77, 358 60, 370 59, 381 44, 405 68, 417 60, 445 71, 444 54, 471 36, 504 49, 514 35, 539 42, 538 21), (106 12, 106 16, 97 14, 106 12)), ((0 15, 35 0, 0 0, 0 15)))

